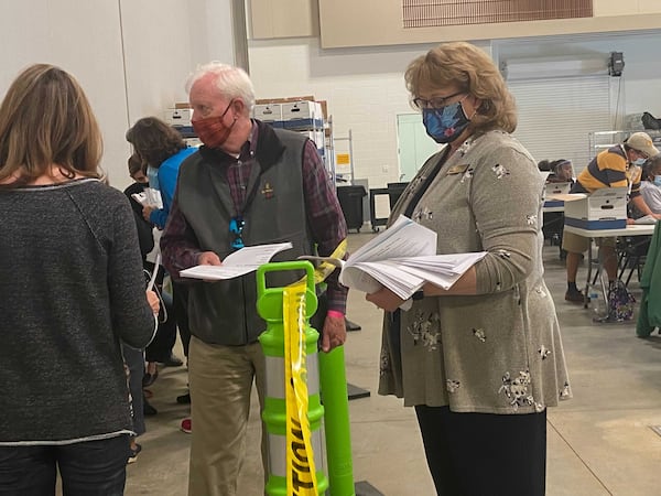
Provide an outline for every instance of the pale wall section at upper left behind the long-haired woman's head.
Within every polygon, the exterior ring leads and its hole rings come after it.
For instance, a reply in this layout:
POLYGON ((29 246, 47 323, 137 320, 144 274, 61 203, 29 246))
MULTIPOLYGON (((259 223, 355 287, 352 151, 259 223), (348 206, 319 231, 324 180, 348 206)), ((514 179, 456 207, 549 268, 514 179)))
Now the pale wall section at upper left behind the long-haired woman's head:
MULTIPOLYGON (((119 9, 117 0, 2 2, 0 7, 0 93, 33 63, 55 64, 79 80, 104 131, 104 169, 126 171, 129 148, 119 9)), ((124 174, 126 175, 126 174, 124 174)))

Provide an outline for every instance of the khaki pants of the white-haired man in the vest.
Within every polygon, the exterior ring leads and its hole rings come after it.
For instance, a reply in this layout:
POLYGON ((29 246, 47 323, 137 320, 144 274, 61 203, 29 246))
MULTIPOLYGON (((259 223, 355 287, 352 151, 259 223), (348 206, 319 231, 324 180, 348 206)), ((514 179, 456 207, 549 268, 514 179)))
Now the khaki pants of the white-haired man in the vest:
MULTIPOLYGON (((189 496, 237 494, 246 451, 252 379, 254 377, 263 410, 264 368, 259 343, 223 346, 204 343, 195 336, 191 338, 188 381, 193 432, 189 496)), ((266 466, 264 439, 262 432, 262 462, 266 466)))

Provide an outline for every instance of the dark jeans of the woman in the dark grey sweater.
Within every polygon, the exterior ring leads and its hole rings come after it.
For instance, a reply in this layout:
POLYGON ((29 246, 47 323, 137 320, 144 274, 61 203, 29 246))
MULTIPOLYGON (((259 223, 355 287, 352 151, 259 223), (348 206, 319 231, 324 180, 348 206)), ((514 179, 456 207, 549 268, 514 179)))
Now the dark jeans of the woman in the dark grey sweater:
POLYGON ((0 446, 0 495, 55 495, 58 467, 64 496, 121 496, 128 456, 128 435, 59 446, 0 446))

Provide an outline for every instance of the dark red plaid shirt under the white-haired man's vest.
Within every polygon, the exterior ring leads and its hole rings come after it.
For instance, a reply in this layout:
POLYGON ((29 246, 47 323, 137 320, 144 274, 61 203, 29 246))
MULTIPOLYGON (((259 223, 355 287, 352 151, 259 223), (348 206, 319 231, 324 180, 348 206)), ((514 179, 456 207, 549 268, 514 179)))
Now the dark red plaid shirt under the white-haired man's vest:
MULTIPOLYGON (((218 154, 220 160, 217 166, 225 169, 227 172, 227 183, 236 215, 240 215, 245 208, 246 185, 254 164, 258 134, 258 126, 252 122, 250 140, 243 144, 238 158, 226 153, 218 154)), ((303 152, 303 188, 307 223, 312 230, 313 240, 317 244, 319 255, 328 256, 347 237, 347 226, 337 195, 330 186, 326 170, 311 140, 305 143, 303 152)), ((165 230, 167 237, 175 239, 175 241, 167 250, 169 256, 167 258, 164 257, 163 265, 175 273, 196 266, 197 257, 202 251, 197 246, 195 233, 178 208, 178 191, 174 194, 165 230)), ((326 280, 328 284, 326 292, 328 310, 345 313, 347 289, 338 282, 337 278, 338 272, 335 271, 326 280)))

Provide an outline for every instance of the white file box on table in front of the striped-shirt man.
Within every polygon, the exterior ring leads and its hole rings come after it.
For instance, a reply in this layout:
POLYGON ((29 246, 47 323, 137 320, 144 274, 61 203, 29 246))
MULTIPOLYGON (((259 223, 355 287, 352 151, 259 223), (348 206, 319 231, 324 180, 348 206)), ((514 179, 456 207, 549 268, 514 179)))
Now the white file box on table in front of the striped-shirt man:
POLYGON ((603 187, 589 195, 564 196, 565 224, 583 229, 627 227, 627 188, 603 187))

